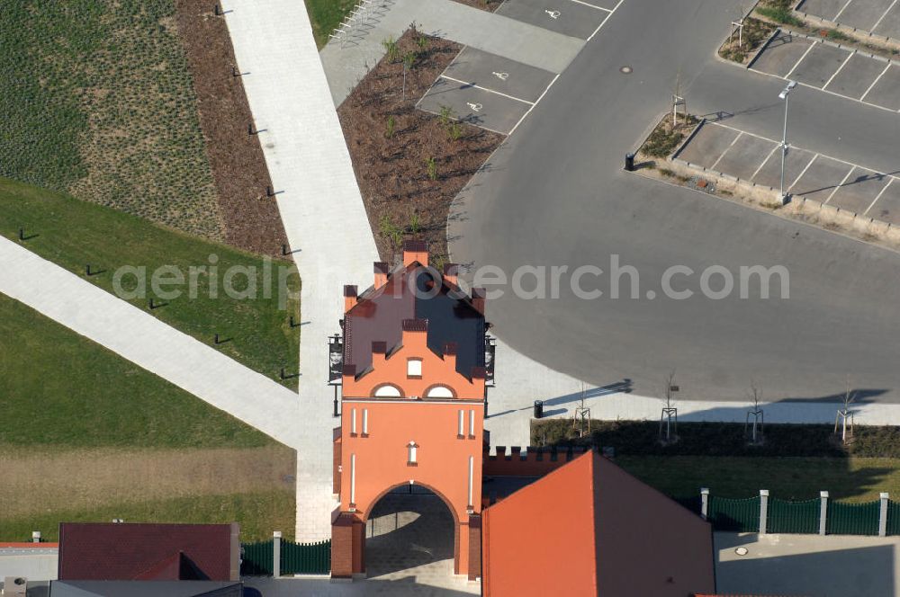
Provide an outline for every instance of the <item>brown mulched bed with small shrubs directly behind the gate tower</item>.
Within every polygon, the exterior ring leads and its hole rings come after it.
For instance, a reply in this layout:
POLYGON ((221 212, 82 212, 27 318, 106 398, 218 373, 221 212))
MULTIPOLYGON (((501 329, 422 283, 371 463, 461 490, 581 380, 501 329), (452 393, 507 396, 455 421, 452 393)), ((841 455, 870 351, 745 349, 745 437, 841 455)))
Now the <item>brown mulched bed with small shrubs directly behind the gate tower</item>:
POLYGON ((409 238, 428 241, 438 266, 446 260, 450 203, 504 138, 415 108, 461 49, 410 29, 338 108, 384 261, 392 263, 409 238), (401 57, 410 52, 416 59, 407 73, 404 100, 401 57))

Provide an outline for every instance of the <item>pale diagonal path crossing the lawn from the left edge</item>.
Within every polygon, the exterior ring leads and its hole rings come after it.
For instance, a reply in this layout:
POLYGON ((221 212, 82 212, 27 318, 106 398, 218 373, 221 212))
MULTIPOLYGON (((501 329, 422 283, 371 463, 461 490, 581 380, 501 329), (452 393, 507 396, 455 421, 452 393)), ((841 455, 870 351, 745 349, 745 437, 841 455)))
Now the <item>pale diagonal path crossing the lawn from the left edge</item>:
POLYGON ((0 292, 184 388, 292 448, 302 447, 291 390, 147 312, 0 237, 0 292))

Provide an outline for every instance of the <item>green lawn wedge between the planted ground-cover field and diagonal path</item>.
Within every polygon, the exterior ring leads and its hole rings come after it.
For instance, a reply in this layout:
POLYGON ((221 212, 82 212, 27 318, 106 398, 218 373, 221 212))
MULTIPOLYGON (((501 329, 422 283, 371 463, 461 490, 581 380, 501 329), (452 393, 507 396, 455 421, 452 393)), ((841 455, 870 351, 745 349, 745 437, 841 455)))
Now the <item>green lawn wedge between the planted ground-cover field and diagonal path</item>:
MULTIPOLYGON (((279 305, 277 289, 279 270, 285 275, 290 272, 286 288, 299 296, 300 281, 293 262, 273 261, 272 284, 266 284, 267 258, 157 226, 115 209, 0 178, 0 235, 18 242, 20 227, 25 228, 26 236, 37 235, 23 244, 26 248, 103 290, 112 291, 117 268, 146 268, 146 298, 131 298, 131 304, 203 343, 214 345, 215 334, 220 334, 220 341, 227 342, 215 345, 216 349, 269 378, 280 379, 283 367, 289 375, 296 373, 301 328, 292 327, 290 317, 299 322, 299 300, 287 298, 283 306, 279 305), (153 291, 150 276, 159 266, 175 266, 187 281, 191 266, 211 266, 211 255, 215 256, 218 274, 214 277, 218 283, 213 283, 211 270, 200 274, 196 298, 191 298, 186 289, 180 298, 166 300, 153 291), (88 263, 94 271, 103 273, 85 276, 88 263), (254 268, 252 276, 238 272, 234 290, 247 290, 247 279, 252 278, 257 286, 255 298, 226 295, 222 282, 232 266, 254 268), (211 296, 213 287, 218 288, 215 298, 211 296), (272 289, 270 296, 264 295, 264 287, 272 289), (149 298, 166 305, 151 310, 149 298)), ((134 276, 123 276, 121 282, 123 290, 136 290, 134 276)), ((128 331, 122 330, 122 334, 128 331)), ((60 361, 58 366, 67 367, 68 363, 60 361)), ((296 378, 282 383, 297 387, 296 378)))

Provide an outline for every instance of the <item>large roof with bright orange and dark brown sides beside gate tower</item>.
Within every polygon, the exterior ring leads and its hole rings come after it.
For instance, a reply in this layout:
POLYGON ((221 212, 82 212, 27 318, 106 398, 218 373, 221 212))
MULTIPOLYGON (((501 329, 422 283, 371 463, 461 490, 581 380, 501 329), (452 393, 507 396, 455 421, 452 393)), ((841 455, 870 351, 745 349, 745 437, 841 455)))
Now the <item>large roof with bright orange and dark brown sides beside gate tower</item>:
POLYGON ((482 533, 486 597, 715 589, 709 523, 596 452, 485 509, 482 533))

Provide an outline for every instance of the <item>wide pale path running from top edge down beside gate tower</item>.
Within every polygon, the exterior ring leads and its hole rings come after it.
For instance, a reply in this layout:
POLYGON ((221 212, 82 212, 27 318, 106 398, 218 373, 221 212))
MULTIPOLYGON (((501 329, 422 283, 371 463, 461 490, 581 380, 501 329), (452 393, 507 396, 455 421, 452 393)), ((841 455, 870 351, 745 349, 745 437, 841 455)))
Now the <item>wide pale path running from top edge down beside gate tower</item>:
POLYGON ((302 410, 296 417, 284 418, 284 424, 302 438, 297 454, 296 537, 326 539, 337 505, 331 495, 331 441, 332 428, 338 424, 332 417, 333 392, 326 385, 326 339, 339 330, 343 285, 370 285, 378 254, 302 2, 222 4, 303 281, 302 410))

